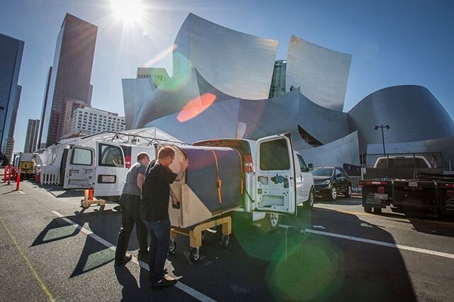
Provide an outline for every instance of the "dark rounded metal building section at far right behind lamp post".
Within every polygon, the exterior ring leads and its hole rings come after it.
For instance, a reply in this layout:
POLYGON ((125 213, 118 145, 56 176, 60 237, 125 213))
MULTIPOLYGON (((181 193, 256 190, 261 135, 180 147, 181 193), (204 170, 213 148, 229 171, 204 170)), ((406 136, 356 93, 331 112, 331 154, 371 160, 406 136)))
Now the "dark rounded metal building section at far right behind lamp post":
POLYGON ((386 143, 414 142, 454 136, 453 120, 426 87, 392 86, 373 92, 349 112, 350 131, 358 130, 360 152, 382 142, 375 125, 384 130, 386 143))

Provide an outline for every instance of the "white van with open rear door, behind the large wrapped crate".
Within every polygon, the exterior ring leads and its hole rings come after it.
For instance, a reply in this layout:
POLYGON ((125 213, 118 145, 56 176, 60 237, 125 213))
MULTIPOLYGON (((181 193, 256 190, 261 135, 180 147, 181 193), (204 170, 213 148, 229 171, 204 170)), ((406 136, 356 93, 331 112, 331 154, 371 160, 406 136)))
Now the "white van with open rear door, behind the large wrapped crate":
POLYGON ((253 213, 253 221, 261 220, 265 230, 277 228, 280 215, 296 214, 299 204, 308 209, 314 206, 314 177, 309 172, 314 166, 293 150, 288 133, 257 141, 231 138, 192 145, 232 147, 240 152, 245 166, 245 203, 236 211, 253 213))

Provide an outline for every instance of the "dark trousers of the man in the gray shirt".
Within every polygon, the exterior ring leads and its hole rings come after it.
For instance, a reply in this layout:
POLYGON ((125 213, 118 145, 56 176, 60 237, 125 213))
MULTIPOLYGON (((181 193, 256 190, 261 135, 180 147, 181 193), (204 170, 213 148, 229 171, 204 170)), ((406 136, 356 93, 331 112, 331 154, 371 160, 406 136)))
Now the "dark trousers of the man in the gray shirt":
POLYGON ((121 229, 116 243, 115 261, 121 261, 128 250, 129 237, 135 225, 139 255, 148 254, 148 231, 140 219, 140 196, 121 194, 121 229))

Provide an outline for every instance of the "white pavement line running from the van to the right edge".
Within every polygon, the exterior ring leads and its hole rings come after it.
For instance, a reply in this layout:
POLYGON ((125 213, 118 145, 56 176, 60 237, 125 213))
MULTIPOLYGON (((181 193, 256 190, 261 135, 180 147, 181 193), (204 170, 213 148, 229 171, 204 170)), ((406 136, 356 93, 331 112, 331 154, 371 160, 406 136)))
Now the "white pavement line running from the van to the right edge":
MULTIPOLYGON (((293 228, 291 225, 279 225, 279 226, 282 228, 293 228)), ((313 234, 322 235, 322 236, 336 237, 336 238, 353 240, 353 241, 358 241, 358 242, 365 242, 365 243, 370 243, 372 245, 381 245, 383 247, 393 247, 398 250, 408 250, 411 252, 420 252, 422 254, 454 259, 454 254, 448 254, 446 252, 437 252, 437 251, 433 251, 433 250, 420 249, 419 247, 409 247, 407 245, 397 245, 395 243, 390 243, 390 242, 370 240, 370 239, 353 237, 353 236, 348 236, 348 235, 341 235, 341 234, 336 234, 336 233, 322 232, 320 230, 311 230, 308 228, 306 228, 305 230, 307 233, 313 233, 313 234)))

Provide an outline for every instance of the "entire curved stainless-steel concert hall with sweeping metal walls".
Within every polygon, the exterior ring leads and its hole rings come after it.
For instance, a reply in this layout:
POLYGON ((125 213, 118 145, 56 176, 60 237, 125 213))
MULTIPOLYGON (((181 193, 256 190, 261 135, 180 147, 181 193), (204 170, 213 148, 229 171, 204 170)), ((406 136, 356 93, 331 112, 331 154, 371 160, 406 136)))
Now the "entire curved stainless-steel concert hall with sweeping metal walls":
MULTIPOLYGON (((360 164, 367 145, 382 142, 375 125, 389 125, 385 142, 402 143, 402 150, 430 149, 438 138, 449 138, 443 150, 452 145, 453 120, 422 86, 380 89, 342 112, 350 55, 292 36, 287 84, 293 88, 268 98, 275 41, 190 14, 175 43, 173 77, 157 87, 123 80, 132 128, 155 126, 187 143, 291 133, 295 149, 318 165, 360 164)), ((454 163, 454 152, 446 154, 454 163)))

